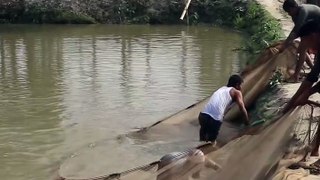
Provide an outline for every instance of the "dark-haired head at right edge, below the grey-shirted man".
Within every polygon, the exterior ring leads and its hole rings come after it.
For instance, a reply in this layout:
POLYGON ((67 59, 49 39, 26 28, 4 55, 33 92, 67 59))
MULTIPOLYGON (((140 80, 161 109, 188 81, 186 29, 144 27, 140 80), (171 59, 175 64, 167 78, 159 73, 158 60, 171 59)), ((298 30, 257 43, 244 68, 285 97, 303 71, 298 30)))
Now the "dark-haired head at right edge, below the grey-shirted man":
POLYGON ((300 45, 314 50, 320 50, 320 21, 306 22, 297 33, 301 38, 300 45))

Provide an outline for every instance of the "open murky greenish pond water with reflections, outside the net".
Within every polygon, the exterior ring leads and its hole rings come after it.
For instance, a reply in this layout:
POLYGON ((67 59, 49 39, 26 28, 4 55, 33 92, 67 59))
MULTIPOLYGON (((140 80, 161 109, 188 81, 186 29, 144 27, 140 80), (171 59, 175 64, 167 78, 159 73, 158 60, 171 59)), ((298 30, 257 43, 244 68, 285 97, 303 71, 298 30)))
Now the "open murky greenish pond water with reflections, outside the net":
POLYGON ((47 179, 97 142, 123 152, 118 135, 208 96, 241 59, 239 34, 214 27, 2 25, 0 34, 0 174, 10 180, 47 179))

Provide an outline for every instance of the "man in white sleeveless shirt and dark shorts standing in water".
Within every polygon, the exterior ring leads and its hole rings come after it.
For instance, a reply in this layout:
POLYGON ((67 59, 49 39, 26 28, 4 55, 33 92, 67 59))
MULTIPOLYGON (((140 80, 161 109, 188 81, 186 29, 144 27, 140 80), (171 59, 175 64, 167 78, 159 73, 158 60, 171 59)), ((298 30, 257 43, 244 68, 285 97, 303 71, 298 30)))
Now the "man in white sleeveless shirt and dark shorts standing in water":
POLYGON ((215 91, 209 102, 199 114, 200 141, 214 142, 219 134, 224 114, 232 102, 236 102, 240 111, 245 115, 245 124, 249 125, 249 117, 241 93, 243 79, 239 75, 232 75, 227 86, 215 91))

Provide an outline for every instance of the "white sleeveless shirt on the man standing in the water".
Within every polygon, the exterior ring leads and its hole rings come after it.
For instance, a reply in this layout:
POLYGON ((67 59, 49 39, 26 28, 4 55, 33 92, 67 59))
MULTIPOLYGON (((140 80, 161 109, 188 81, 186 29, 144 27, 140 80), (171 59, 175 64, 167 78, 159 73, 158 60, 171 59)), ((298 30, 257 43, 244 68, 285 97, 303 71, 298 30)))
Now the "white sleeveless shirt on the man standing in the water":
POLYGON ((233 87, 223 86, 215 91, 202 113, 208 114, 213 119, 222 122, 225 110, 232 103, 232 97, 230 95, 232 88, 233 87))

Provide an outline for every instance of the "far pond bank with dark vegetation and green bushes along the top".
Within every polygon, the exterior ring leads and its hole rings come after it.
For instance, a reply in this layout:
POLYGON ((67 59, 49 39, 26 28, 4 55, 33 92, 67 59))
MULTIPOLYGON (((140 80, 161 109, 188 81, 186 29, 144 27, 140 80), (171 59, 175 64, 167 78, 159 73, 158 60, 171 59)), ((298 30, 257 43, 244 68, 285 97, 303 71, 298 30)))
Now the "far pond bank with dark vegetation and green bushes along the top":
POLYGON ((246 32, 244 50, 256 53, 283 36, 280 23, 253 0, 6 0, 2 23, 189 24, 227 26, 246 32))

